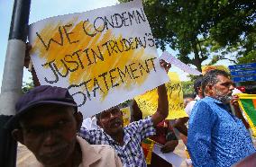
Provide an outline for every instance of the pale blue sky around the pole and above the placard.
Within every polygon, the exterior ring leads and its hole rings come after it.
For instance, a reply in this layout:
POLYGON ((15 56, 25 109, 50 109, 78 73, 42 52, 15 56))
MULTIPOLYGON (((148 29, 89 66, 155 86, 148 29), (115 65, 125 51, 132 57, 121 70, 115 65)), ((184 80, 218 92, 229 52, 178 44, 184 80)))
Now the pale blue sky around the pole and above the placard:
MULTIPOLYGON (((118 4, 117 0, 32 0, 30 23, 67 13, 81 13, 88 10, 118 4)), ((1 31, 0 31, 0 86, 5 66, 5 53, 13 12, 14 0, 0 0, 1 31)), ((161 51, 158 50, 161 54, 161 51)), ((176 52, 170 51, 174 56, 176 52)), ((228 62, 219 65, 229 65, 228 62)), ((175 66, 171 71, 178 72, 181 80, 187 80, 187 74, 175 66)), ((28 81, 30 73, 24 70, 23 81, 28 81)))

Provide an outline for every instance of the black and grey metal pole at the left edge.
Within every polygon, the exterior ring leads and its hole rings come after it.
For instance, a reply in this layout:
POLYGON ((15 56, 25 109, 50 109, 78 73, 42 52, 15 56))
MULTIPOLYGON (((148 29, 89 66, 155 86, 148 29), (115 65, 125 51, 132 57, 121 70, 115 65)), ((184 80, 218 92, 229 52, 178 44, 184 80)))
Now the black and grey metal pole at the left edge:
POLYGON ((5 123, 15 114, 15 102, 22 92, 30 4, 31 0, 14 0, 0 94, 0 166, 3 167, 16 166, 17 143, 5 129, 5 123))

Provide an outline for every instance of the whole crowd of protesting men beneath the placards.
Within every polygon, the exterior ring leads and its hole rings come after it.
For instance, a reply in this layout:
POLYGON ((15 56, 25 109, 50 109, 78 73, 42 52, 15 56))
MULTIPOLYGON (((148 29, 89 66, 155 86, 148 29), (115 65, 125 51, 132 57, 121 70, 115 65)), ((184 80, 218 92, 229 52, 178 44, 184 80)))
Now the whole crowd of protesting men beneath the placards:
MULTIPOLYGON (((24 66, 29 61, 26 57, 24 66)), ((163 60, 160 66, 167 71, 170 67, 163 60)), ((35 155, 33 166, 169 167, 170 163, 154 153, 147 165, 141 144, 150 137, 162 145, 162 153, 173 152, 178 145, 173 128, 187 137, 185 145, 193 166, 255 162, 256 150, 247 122, 238 106, 238 96, 232 95, 230 75, 224 71, 211 70, 197 78, 197 96, 185 104, 188 117, 175 120, 173 126, 166 120, 169 101, 163 84, 158 87, 158 108, 150 117, 143 119, 133 101, 133 122, 128 126, 123 127, 122 112, 114 106, 94 117, 93 129, 81 127, 83 116, 67 89, 40 85, 33 68, 32 76, 35 88, 16 103, 17 114, 6 127, 35 155)))

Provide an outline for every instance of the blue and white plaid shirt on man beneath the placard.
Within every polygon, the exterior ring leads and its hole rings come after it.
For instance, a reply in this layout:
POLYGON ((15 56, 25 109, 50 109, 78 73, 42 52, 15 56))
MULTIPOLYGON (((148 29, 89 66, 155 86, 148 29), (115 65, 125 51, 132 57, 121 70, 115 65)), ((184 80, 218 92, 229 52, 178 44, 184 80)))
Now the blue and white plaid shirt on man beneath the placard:
POLYGON ((121 158, 124 167, 146 167, 141 142, 144 138, 156 133, 151 117, 132 122, 123 127, 123 132, 124 145, 115 142, 103 129, 87 130, 82 127, 79 136, 85 138, 92 145, 111 145, 121 158))

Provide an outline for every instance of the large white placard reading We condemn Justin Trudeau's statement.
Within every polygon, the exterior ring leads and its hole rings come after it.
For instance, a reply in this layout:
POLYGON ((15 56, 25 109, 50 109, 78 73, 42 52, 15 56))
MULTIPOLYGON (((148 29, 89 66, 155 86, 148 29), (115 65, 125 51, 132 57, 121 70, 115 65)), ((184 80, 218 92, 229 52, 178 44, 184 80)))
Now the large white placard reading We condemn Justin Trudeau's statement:
POLYGON ((35 22, 29 40, 40 83, 68 88, 85 117, 169 81, 142 1, 35 22))

